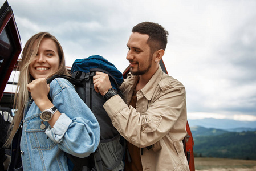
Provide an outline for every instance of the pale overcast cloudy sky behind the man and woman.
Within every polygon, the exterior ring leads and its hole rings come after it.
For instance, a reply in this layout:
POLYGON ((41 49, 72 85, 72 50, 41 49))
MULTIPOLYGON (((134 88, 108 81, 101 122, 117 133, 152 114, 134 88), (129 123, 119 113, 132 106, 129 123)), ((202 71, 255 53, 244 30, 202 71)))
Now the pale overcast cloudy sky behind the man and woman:
POLYGON ((169 32, 162 59, 186 88, 188 119, 256 121, 256 1, 8 2, 22 47, 37 32, 50 32, 67 66, 100 55, 123 72, 132 27, 159 23, 169 32))

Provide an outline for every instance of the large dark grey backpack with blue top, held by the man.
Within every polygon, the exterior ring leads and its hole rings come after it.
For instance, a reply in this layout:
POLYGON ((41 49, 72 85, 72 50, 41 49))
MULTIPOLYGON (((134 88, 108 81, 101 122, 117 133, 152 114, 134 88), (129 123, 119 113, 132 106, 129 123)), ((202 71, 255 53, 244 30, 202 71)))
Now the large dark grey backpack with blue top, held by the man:
POLYGON ((111 120, 103 108, 105 99, 94 89, 92 77, 96 71, 105 72, 109 75, 109 80, 113 88, 119 89, 123 83, 123 75, 117 68, 102 56, 95 55, 86 59, 76 59, 72 64, 71 74, 54 75, 47 79, 47 84, 55 78, 61 77, 74 84, 76 92, 94 113, 100 125, 100 143, 97 150, 86 158, 79 158, 67 154, 67 157, 74 164, 73 170, 123 170, 123 156, 126 148, 126 141, 120 133, 113 127, 111 120))

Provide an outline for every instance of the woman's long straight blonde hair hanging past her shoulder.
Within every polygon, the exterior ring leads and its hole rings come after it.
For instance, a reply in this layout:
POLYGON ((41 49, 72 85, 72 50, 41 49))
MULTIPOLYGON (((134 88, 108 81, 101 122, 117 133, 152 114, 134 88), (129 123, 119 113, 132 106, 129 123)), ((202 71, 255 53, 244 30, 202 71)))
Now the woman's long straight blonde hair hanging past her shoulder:
POLYGON ((13 123, 11 124, 11 127, 9 129, 10 134, 5 143, 5 146, 11 145, 11 141, 13 140, 15 132, 19 128, 19 124, 21 123, 21 120, 23 118, 25 103, 27 100, 29 100, 29 91, 27 91, 27 84, 29 84, 33 79, 29 73, 29 64, 35 58, 40 42, 43 38, 50 38, 51 40, 53 40, 56 43, 56 46, 58 49, 58 55, 60 60, 59 69, 52 75, 54 74, 70 75, 66 69, 64 52, 63 52, 62 46, 60 45, 58 40, 55 38, 55 36, 51 35, 48 32, 39 32, 38 34, 35 34, 27 41, 22 51, 21 62, 19 62, 18 64, 18 68, 20 72, 19 72, 18 86, 14 96, 14 109, 17 109, 17 112, 15 113, 13 123))

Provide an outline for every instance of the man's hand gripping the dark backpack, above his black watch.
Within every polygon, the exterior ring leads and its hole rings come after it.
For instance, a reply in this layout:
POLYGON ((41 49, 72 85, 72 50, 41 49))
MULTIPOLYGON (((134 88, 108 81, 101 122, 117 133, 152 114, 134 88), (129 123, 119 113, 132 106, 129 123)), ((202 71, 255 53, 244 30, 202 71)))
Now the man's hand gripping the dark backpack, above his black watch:
POLYGON ((104 96, 105 93, 107 93, 108 90, 110 88, 112 88, 109 77, 108 77, 108 74, 97 71, 93 80, 94 80, 94 89, 95 89, 95 91, 97 93, 100 92, 100 94, 102 96, 104 96))

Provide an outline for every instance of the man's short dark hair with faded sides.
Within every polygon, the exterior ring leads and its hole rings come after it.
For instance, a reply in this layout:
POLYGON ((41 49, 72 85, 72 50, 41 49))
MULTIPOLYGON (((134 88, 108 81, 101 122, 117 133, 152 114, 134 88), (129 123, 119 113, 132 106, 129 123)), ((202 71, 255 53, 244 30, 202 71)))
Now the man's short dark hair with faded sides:
POLYGON ((149 35, 147 43, 151 48, 151 54, 160 49, 165 50, 169 33, 161 25, 153 22, 142 22, 134 26, 132 32, 149 35))

